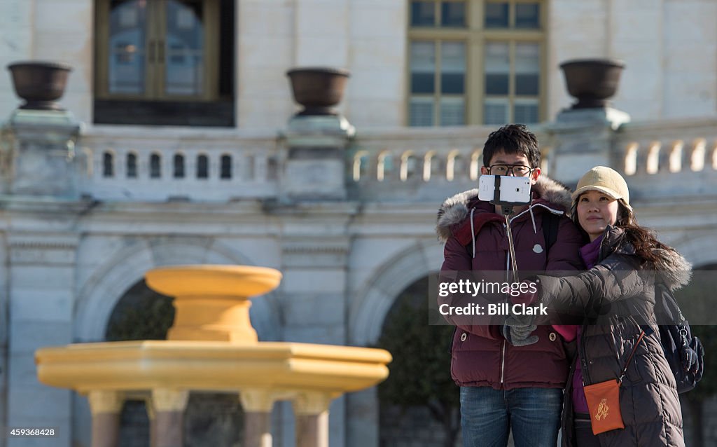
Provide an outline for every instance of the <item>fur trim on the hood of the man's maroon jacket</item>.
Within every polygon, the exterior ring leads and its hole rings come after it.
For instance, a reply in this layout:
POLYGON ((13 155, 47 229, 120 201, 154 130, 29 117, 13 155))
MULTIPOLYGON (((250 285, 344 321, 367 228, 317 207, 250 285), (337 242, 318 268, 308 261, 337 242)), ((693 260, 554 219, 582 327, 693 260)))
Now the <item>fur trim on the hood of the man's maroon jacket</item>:
MULTIPOLYGON (((534 195, 533 199, 540 198, 542 202, 547 202, 556 210, 566 214, 569 213, 571 192, 564 185, 545 175, 541 175, 538 177, 538 182, 531 189, 534 195)), ((478 189, 469 189, 446 199, 438 210, 436 221, 438 240, 445 243, 452 234, 452 228, 467 219, 470 207, 486 203, 478 199, 478 189)), ((535 206, 535 200, 531 204, 531 207, 533 206, 535 206)))

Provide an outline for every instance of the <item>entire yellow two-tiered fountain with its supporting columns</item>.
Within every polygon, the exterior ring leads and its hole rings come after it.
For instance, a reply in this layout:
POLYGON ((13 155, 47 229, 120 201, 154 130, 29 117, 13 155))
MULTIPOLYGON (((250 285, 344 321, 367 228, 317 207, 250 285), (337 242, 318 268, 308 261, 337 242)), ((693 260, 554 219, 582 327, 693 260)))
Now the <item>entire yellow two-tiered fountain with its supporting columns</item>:
POLYGON ((92 447, 116 447, 125 399, 144 398, 151 445, 182 443, 192 390, 236 393, 246 447, 271 447, 270 411, 292 400, 297 447, 328 447, 328 405, 344 392, 388 377, 383 349, 259 342, 249 319, 252 296, 281 281, 272 268, 184 265, 146 273, 147 285, 174 296, 166 340, 69 344, 35 353, 39 381, 87 395, 92 447))

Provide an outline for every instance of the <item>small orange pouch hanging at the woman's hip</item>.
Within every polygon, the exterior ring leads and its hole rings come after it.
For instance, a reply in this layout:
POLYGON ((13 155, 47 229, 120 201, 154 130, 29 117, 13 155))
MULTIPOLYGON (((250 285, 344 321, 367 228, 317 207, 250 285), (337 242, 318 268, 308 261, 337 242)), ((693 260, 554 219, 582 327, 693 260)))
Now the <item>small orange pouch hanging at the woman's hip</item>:
POLYGON ((592 433, 625 428, 620 413, 620 384, 617 379, 584 387, 592 433))

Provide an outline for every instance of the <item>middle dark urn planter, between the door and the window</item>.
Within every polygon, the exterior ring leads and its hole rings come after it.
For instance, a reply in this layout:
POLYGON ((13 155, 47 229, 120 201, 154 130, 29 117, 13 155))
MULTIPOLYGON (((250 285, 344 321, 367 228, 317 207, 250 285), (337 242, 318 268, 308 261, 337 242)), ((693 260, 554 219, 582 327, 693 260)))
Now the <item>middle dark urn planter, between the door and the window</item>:
POLYGON ((333 106, 341 102, 348 71, 326 67, 294 68, 286 72, 294 100, 304 110, 297 116, 336 115, 333 106))

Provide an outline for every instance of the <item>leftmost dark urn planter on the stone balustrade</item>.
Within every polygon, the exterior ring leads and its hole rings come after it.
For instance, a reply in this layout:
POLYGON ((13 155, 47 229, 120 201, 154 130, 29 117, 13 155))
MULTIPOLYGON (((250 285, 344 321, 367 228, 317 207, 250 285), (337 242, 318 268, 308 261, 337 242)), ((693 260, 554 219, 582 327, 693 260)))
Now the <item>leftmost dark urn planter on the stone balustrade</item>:
POLYGON ((55 102, 65 93, 72 67, 60 62, 22 61, 7 66, 15 93, 25 103, 22 109, 64 110, 55 102))

